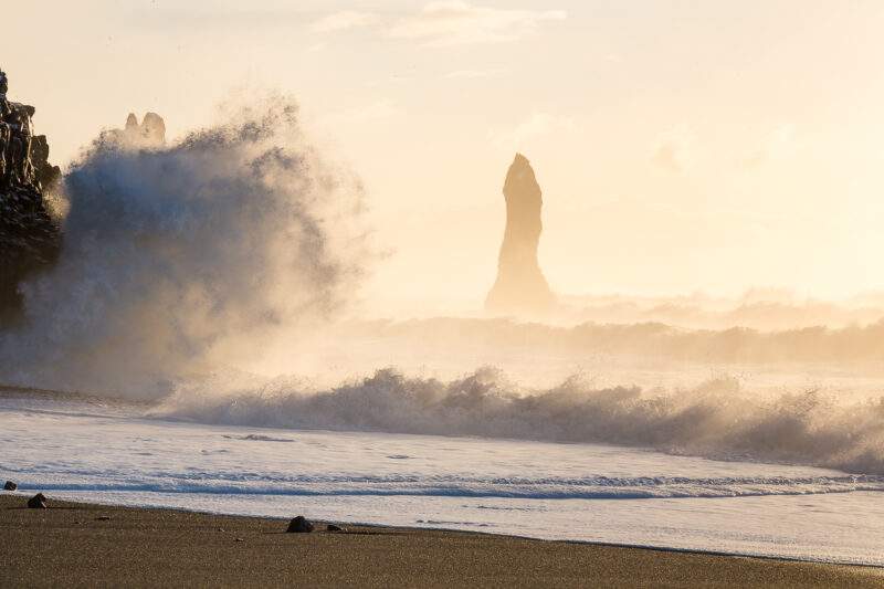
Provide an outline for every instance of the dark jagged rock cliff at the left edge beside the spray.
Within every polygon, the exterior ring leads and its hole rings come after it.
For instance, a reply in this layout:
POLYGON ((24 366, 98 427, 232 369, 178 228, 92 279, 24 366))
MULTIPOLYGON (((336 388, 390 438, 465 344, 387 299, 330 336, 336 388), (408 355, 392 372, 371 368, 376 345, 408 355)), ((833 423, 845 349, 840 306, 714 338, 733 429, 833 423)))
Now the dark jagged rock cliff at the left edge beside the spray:
POLYGON ((21 311, 21 280, 52 264, 61 248, 43 199, 61 170, 49 164, 45 135, 33 133, 34 107, 9 101, 8 90, 0 71, 0 325, 21 311))

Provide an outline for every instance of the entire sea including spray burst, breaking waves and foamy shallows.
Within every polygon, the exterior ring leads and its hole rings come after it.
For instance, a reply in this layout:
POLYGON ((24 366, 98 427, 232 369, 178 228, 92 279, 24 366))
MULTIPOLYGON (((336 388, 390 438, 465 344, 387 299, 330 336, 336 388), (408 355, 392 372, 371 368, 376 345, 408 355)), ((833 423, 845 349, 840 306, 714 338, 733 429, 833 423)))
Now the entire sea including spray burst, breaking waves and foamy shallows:
POLYGON ((15 493, 884 566, 880 297, 360 316, 359 181, 285 98, 225 120, 66 170, 0 332, 15 493))

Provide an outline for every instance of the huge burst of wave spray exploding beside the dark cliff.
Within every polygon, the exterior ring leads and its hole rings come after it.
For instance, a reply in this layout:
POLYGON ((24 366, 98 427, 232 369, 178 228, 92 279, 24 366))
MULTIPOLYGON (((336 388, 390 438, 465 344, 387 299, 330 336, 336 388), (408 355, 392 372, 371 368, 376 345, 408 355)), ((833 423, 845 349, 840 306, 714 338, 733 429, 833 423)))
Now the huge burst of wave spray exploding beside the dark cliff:
POLYGON ((0 336, 4 382, 154 398, 345 301, 358 182, 305 143, 290 101, 232 120, 170 147, 105 133, 73 166, 60 260, 0 336))

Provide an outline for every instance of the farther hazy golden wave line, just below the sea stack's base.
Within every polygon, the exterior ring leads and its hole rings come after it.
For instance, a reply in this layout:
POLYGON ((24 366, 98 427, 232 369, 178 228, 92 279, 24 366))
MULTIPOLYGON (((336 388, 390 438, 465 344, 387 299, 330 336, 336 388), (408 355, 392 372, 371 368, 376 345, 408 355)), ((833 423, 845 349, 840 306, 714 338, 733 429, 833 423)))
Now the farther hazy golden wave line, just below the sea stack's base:
POLYGON ((433 317, 354 323, 355 340, 419 349, 494 350, 497 354, 638 355, 692 362, 852 361, 884 359, 884 320, 830 328, 746 327, 686 329, 662 323, 557 326, 514 319, 433 317))

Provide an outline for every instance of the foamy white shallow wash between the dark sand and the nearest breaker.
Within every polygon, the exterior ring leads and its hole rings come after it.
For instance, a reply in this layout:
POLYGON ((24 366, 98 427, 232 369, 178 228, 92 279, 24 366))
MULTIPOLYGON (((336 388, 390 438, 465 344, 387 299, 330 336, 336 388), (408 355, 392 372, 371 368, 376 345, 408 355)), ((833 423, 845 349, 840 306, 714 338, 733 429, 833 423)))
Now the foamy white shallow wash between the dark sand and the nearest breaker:
POLYGON ((884 476, 155 413, 147 403, 7 393, 0 477, 50 499, 884 566, 884 476))

